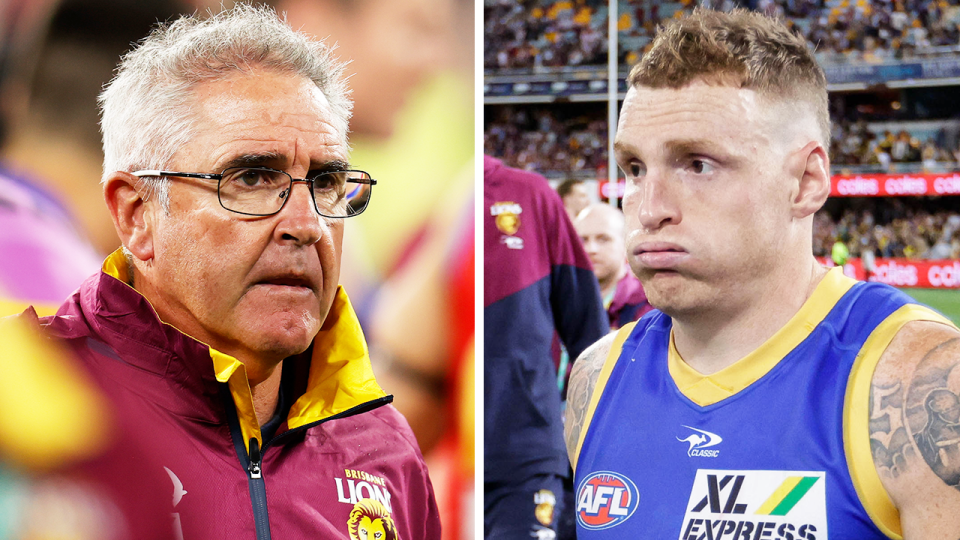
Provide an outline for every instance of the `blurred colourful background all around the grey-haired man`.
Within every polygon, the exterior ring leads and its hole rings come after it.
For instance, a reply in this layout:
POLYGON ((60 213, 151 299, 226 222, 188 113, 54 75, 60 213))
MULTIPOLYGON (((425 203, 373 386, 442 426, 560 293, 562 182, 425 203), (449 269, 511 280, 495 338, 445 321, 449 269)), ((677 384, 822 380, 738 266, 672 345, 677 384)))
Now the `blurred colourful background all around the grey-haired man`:
MULTIPOLYGON (((471 538, 474 3, 265 3, 286 13, 295 29, 336 43, 350 61, 351 161, 378 184, 371 207, 346 226, 343 285, 364 324, 378 379, 395 395, 427 457, 444 538, 471 538)), ((220 0, 0 0, 0 316, 28 305, 40 315, 54 312, 119 247, 99 186, 97 95, 120 56, 151 27, 220 6, 220 0), (30 231, 3 221, 26 217, 30 231)), ((3 341, 5 373, 28 352, 45 350, 3 341)), ((75 421, 59 411, 75 408, 76 394, 56 393, 47 376, 76 374, 64 367, 68 358, 61 360, 63 369, 58 360, 54 367, 38 363, 35 376, 16 382, 0 377, 7 381, 0 383, 0 404, 47 413, 46 423, 33 418, 36 425, 75 421)), ((16 416, 0 414, 0 539, 110 537, 103 529, 88 534, 96 520, 84 518, 84 505, 74 502, 76 493, 97 490, 95 481, 75 474, 90 456, 64 451, 58 458, 54 450, 61 447, 50 440, 18 434, 14 426, 23 421, 16 416), (22 457, 44 448, 53 457, 42 466, 22 457), (44 511, 51 504, 76 511, 44 511)), ((102 422, 109 423, 108 415, 102 422)))

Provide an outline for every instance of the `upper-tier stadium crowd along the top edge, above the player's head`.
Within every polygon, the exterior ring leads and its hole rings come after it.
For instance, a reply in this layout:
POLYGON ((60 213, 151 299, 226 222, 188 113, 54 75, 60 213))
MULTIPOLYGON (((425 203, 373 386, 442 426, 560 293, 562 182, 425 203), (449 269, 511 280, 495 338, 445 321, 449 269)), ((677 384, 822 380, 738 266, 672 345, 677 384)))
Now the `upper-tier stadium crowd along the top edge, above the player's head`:
MULTIPOLYGON (((786 17, 822 61, 880 63, 960 43, 958 0, 621 0, 621 63, 639 59, 657 24, 696 5, 745 6, 786 17), (626 44, 626 46, 624 46, 626 44)), ((492 0, 484 6, 484 68, 538 68, 606 62, 606 2, 492 0)))

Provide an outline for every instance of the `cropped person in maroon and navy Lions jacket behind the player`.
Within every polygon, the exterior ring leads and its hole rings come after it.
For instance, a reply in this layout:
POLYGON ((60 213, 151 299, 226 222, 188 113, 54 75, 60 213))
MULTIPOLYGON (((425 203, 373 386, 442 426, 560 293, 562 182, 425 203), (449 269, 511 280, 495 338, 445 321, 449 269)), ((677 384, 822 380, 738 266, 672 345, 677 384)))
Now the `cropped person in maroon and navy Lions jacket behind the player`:
POLYGON ((572 355, 607 332, 597 280, 559 197, 484 157, 484 534, 554 538, 564 509, 554 332, 572 355))

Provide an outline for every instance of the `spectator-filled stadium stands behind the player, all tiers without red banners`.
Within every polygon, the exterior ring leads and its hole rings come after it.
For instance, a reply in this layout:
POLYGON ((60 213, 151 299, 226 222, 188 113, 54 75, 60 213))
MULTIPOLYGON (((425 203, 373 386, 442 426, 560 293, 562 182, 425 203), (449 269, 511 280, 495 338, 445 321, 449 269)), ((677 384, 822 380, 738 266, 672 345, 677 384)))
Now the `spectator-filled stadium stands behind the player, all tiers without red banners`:
MULTIPOLYGON (((658 24, 696 6, 783 18, 827 74, 833 173, 960 170, 958 0, 620 0, 619 78, 658 24)), ((484 151, 552 182, 607 178, 608 2, 484 0, 484 151)), ((952 197, 834 199, 818 214, 815 250, 851 257, 960 257, 952 197)))

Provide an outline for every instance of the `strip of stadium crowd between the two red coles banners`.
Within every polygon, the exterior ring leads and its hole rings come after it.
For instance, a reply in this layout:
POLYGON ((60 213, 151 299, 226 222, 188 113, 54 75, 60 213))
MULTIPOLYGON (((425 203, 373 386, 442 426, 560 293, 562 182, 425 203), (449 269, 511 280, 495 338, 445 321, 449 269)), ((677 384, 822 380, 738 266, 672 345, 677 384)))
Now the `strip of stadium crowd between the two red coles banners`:
POLYGON ((813 248, 830 257, 842 241, 851 257, 960 258, 960 213, 949 201, 922 198, 848 199, 814 216, 813 248), (839 213, 839 215, 838 215, 839 213))

